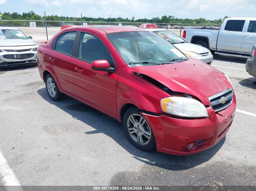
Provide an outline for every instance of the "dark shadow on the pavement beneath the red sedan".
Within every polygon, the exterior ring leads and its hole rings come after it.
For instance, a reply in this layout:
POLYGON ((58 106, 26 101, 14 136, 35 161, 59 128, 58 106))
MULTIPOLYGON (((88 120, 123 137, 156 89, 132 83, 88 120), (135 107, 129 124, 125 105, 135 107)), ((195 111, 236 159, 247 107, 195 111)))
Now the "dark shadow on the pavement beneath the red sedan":
POLYGON ((218 144, 205 151, 183 157, 164 154, 157 151, 141 151, 128 141, 123 131, 122 124, 116 119, 69 96, 65 96, 61 101, 53 101, 48 97, 45 88, 39 89, 37 92, 43 99, 67 112, 73 116, 74 119, 80 120, 96 129, 94 131, 85 132, 85 134, 91 135, 95 133, 104 133, 133 155, 133 158, 142 161, 145 164, 161 167, 167 170, 186 170, 209 161, 219 151, 226 139, 226 137, 224 137, 218 144))

